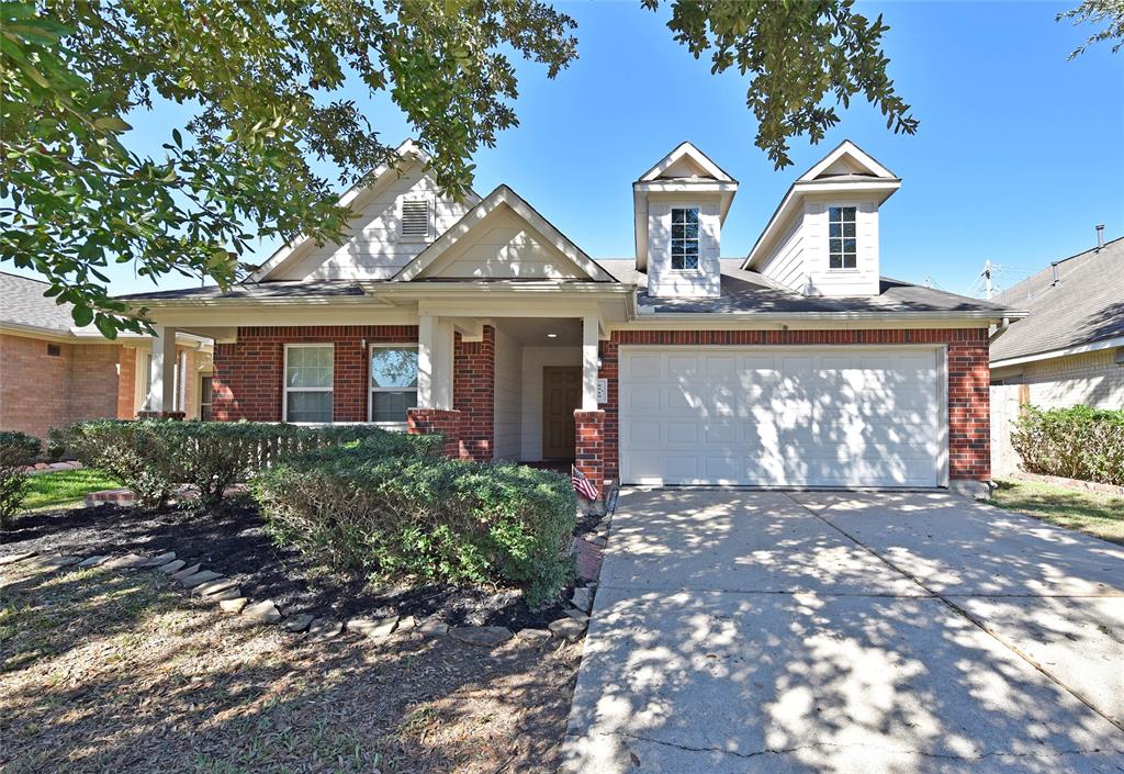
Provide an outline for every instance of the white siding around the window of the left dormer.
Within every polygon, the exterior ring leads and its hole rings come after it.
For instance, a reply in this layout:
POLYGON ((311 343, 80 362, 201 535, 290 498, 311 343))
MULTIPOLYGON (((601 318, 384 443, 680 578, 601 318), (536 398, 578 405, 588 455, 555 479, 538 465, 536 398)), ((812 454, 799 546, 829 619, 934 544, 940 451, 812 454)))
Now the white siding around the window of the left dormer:
MULTIPOLYGON (((653 197, 654 199, 654 197, 653 197)), ((652 200, 647 215, 647 292, 653 297, 699 298, 720 294, 722 222, 717 200, 652 200), (699 210, 698 271, 674 271, 671 268, 671 210, 697 207, 699 210)))

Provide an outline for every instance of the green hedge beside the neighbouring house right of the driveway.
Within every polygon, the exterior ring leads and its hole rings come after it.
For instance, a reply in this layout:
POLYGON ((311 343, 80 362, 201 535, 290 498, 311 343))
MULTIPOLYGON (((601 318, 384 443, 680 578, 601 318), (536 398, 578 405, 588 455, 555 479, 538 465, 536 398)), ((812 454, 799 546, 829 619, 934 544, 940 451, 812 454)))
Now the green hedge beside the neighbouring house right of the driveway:
POLYGON ((1027 406, 1010 442, 1027 472, 1124 484, 1124 411, 1027 406))

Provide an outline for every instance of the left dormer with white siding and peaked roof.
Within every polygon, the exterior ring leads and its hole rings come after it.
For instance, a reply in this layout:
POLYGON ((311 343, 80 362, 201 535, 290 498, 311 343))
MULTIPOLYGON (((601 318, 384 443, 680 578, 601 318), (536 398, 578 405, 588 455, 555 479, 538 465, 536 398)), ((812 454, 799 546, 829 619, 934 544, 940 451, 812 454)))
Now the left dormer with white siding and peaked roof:
POLYGON ((716 297, 722 225, 737 181, 690 143, 682 143, 633 183, 636 268, 647 295, 716 297))

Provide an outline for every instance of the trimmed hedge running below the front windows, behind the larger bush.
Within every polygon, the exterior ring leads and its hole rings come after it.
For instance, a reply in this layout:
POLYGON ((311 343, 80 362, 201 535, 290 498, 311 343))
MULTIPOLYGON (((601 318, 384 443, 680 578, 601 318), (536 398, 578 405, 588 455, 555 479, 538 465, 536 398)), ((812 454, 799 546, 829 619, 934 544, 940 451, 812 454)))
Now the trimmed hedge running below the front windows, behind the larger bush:
POLYGON ((84 465, 119 478, 137 495, 142 507, 158 507, 176 488, 190 485, 199 493, 199 504, 214 508, 220 505, 227 487, 263 467, 361 438, 374 439, 386 453, 426 451, 437 443, 433 438, 368 425, 100 420, 67 428, 65 446, 84 465))

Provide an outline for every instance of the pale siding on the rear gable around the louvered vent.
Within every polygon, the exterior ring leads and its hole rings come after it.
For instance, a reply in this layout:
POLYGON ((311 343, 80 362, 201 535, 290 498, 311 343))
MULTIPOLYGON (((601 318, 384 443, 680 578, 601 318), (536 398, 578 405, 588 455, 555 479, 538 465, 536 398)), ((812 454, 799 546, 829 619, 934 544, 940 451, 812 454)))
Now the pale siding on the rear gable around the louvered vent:
POLYGON ((328 242, 315 246, 308 255, 271 279, 388 279, 470 208, 470 202, 443 197, 433 174, 420 164, 410 164, 370 200, 357 206, 353 204, 359 215, 351 222, 350 234, 343 244, 328 242), (407 199, 429 202, 428 240, 399 236, 402 201, 407 199))

